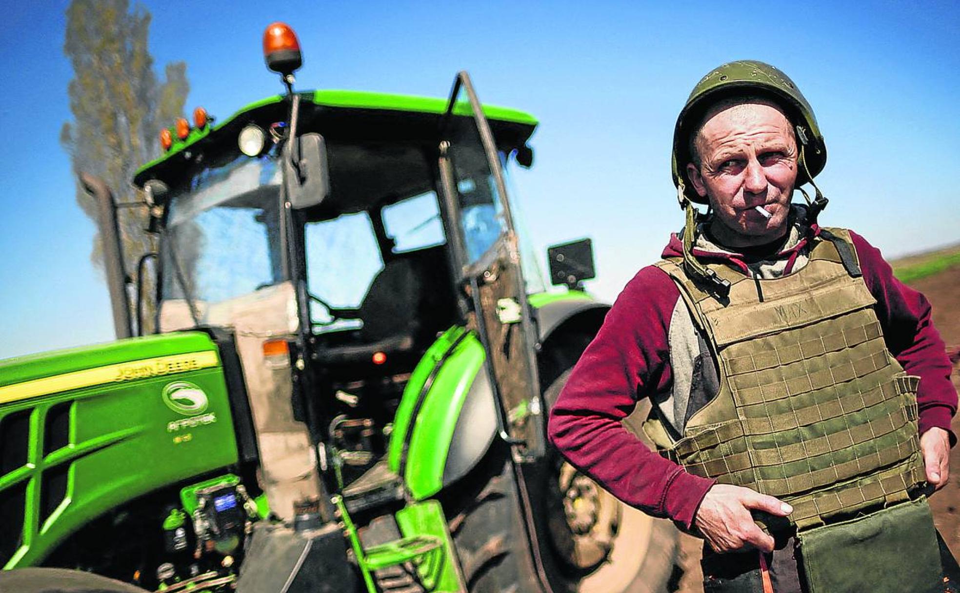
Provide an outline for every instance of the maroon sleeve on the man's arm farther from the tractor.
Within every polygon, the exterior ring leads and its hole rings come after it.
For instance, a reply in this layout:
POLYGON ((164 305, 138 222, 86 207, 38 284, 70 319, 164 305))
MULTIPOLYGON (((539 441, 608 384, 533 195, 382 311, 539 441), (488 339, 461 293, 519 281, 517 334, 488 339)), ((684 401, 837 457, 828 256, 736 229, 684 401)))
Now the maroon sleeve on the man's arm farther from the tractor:
POLYGON ((956 414, 957 392, 950 383, 952 366, 947 347, 930 320, 930 303, 894 277, 879 249, 852 231, 850 235, 863 279, 876 298, 876 317, 887 348, 906 372, 920 377, 920 433, 934 426, 943 428, 952 446, 956 437, 950 430, 950 419, 956 414))

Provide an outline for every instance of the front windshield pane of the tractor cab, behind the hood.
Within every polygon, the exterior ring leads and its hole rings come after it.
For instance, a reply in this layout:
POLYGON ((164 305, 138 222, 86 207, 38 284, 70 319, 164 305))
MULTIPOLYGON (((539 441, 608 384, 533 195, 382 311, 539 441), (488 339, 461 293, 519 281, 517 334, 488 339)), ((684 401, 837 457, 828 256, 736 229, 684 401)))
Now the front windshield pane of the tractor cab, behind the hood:
POLYGON ((164 299, 207 305, 282 279, 280 170, 272 156, 204 169, 170 202, 161 250, 164 299))

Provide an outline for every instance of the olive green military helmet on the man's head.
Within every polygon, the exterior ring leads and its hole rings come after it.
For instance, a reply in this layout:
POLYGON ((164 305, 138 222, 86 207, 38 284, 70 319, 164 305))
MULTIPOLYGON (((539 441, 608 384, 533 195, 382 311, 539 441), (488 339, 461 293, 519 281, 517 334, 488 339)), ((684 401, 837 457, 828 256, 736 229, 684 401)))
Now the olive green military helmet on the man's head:
MULTIPOLYGON (((692 160, 690 134, 700 123, 708 107, 736 95, 768 97, 780 106, 797 132, 798 145, 803 148, 805 162, 798 163, 797 185, 814 178, 827 164, 827 146, 817 125, 813 109, 806 102, 797 85, 774 66, 753 59, 731 61, 714 68, 702 78, 686 100, 677 117, 673 132, 673 183, 678 188, 684 182, 686 163, 692 160), (809 175, 807 175, 809 174, 809 175)), ((691 202, 707 203, 684 182, 684 195, 691 202)))

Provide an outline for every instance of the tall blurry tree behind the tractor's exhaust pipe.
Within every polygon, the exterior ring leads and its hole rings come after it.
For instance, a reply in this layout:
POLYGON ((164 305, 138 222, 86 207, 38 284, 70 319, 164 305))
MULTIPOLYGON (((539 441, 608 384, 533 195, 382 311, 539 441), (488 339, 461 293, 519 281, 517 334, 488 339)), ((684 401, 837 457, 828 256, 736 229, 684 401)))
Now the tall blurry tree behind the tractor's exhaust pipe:
MULTIPOLYGON (((133 173, 160 154, 158 133, 182 115, 190 89, 182 61, 167 64, 163 80, 157 78, 147 47, 150 19, 140 6, 131 12, 127 0, 73 0, 66 10, 63 51, 74 71, 68 88, 73 121, 63 124, 60 143, 74 172, 103 178, 117 202, 141 201, 133 173)), ((77 202, 96 221, 96 205, 79 185, 77 202)), ((119 213, 129 275, 140 255, 153 250, 144 230, 147 215, 145 207, 119 213)), ((100 245, 98 233, 90 257, 102 268, 100 245)), ((153 306, 148 302, 146 320, 153 306)))

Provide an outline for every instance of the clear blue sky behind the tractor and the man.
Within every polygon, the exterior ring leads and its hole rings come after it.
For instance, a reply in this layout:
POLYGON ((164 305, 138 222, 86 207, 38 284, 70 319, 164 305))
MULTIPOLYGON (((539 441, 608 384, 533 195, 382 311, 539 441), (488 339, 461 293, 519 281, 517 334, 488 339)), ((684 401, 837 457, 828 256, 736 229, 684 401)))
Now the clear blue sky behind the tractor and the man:
MULTIPOLYGON (((94 227, 58 141, 71 117, 68 3, 3 4, 0 358, 112 339, 103 274, 89 263, 94 227)), ((731 59, 777 65, 816 110, 829 154, 822 222, 852 226, 888 256, 960 241, 954 2, 144 6, 157 71, 185 60, 187 109, 220 117, 279 91, 260 54, 274 20, 300 36, 301 89, 443 97, 468 70, 484 102, 540 119, 517 201, 541 252, 592 237, 598 278, 588 286, 606 300, 681 225, 673 124, 693 84, 731 59)))

